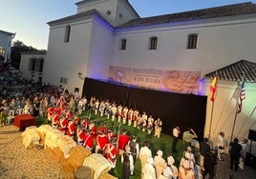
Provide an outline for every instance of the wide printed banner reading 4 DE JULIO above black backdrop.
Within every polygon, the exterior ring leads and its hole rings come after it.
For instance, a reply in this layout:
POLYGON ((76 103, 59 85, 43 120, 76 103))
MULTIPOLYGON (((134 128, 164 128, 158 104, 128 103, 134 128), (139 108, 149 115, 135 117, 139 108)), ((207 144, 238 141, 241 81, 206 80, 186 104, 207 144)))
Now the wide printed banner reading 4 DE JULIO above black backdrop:
POLYGON ((109 68, 110 81, 180 93, 197 94, 200 76, 200 71, 109 68))

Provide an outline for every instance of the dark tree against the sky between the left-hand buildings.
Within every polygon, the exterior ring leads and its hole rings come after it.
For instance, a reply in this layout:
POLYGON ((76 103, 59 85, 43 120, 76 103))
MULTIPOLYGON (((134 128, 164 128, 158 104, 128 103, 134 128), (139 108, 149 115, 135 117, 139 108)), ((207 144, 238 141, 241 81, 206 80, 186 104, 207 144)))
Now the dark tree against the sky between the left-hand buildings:
POLYGON ((23 42, 19 40, 14 41, 11 47, 11 65, 16 70, 19 69, 21 51, 38 51, 38 50, 35 48, 32 48, 32 46, 30 47, 26 46, 23 42))

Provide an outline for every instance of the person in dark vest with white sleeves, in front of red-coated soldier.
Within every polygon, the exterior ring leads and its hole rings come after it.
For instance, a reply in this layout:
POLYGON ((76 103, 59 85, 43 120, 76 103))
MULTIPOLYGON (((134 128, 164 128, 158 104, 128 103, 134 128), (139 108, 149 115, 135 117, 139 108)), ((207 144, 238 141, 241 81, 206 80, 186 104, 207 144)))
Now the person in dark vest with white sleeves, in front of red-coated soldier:
POLYGON ((121 163, 121 179, 129 179, 131 170, 134 169, 134 158, 129 145, 125 146, 125 151, 121 155, 121 163))

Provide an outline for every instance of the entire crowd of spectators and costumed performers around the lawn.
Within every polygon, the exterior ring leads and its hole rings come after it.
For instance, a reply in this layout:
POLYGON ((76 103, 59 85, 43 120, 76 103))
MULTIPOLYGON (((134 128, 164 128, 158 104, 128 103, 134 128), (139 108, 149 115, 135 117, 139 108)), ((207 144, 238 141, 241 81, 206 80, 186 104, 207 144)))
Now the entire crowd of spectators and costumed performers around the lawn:
MULTIPOLYGON (((141 178, 209 178, 214 177, 214 167, 217 160, 222 161, 222 153, 228 147, 224 139, 224 132, 220 132, 217 140, 217 150, 209 145, 207 138, 200 143, 200 162, 196 161, 195 153, 191 148, 193 139, 198 135, 193 129, 188 128, 182 133, 179 126, 173 129, 172 152, 182 152, 180 165, 175 166, 173 156, 165 160, 163 151, 158 150, 156 156, 152 155, 150 141, 146 140, 139 147, 138 136, 127 134, 126 129, 112 129, 105 125, 96 126, 91 120, 91 115, 105 116, 107 120, 121 125, 127 125, 139 129, 142 132, 152 134, 160 138, 162 121, 160 117, 155 120, 146 111, 128 108, 107 99, 100 100, 86 96, 79 96, 77 91, 70 93, 67 89, 33 83, 32 81, 15 77, 13 80, 1 78, 0 86, 0 122, 1 127, 6 125, 10 110, 19 113, 32 114, 34 117, 47 118, 54 129, 59 129, 65 135, 74 138, 78 145, 93 152, 100 153, 111 165, 110 173, 114 174, 117 160, 121 163, 121 178, 126 179, 135 174, 137 160, 141 163, 141 178), (19 111, 19 112, 18 112, 19 111), (87 116, 78 116, 87 111, 87 116), (182 138, 184 150, 176 149, 179 138, 182 138), (203 171, 203 174, 201 173, 203 171), (202 174, 202 177, 200 175, 202 174)), ((120 126, 120 125, 119 125, 120 126)), ((239 142, 237 138, 230 143, 230 169, 238 170, 240 158, 245 159, 247 140, 239 142)), ((242 168, 242 167, 240 167, 242 168)))

